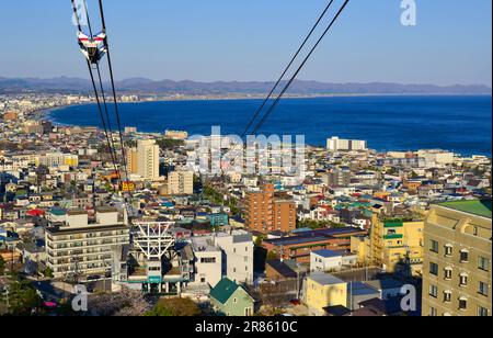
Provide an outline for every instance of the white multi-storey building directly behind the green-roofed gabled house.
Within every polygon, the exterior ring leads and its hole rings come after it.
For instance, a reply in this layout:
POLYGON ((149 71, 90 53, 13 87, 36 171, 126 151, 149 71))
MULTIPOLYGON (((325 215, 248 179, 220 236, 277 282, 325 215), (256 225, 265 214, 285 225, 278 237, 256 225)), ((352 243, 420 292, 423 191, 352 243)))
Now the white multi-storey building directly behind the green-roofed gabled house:
POLYGON ((222 274, 237 283, 253 283, 253 237, 244 230, 219 233, 215 244, 222 250, 222 274))

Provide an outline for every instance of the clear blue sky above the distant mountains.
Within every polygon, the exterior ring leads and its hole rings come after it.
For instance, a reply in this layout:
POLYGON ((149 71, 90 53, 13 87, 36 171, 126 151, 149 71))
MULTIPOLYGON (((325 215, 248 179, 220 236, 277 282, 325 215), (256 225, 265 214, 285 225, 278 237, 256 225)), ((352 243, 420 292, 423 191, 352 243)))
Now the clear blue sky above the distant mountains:
MULTIPOLYGON (((105 0, 116 77, 273 80, 328 1, 105 0)), ((400 3, 352 0, 300 78, 491 86, 491 0, 400 3)), ((3 0, 0 29, 0 76, 87 77, 70 0, 3 0)))

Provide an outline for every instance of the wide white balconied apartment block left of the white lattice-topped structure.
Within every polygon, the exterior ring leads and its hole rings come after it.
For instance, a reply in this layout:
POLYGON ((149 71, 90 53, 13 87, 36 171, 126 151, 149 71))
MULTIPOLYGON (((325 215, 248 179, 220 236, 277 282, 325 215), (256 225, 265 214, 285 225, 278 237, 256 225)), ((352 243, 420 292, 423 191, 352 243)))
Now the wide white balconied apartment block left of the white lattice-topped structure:
POLYGON ((47 218, 47 267, 55 278, 104 274, 111 271, 113 249, 130 240, 115 209, 99 209, 91 223, 85 211, 55 210, 47 218))

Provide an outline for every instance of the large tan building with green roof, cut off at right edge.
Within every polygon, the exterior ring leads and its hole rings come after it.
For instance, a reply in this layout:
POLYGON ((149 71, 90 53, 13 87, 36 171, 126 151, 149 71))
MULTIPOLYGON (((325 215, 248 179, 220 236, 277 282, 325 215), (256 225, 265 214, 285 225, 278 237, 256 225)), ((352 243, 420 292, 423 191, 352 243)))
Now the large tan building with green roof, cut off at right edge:
POLYGON ((424 316, 491 316, 489 201, 434 205, 424 230, 424 316))

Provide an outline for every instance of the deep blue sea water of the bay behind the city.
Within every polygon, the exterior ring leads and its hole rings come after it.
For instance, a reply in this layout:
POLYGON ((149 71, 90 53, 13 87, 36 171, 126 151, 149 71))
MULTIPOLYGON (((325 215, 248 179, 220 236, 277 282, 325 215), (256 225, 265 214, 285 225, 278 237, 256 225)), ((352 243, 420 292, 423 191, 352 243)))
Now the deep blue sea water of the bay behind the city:
MULTIPOLYGON (((121 104, 122 123, 140 132, 183 129, 191 135, 241 135, 261 100, 169 101, 121 104)), ((94 104, 49 113, 54 122, 101 126, 94 104)), ((113 122, 114 123, 114 122, 113 122)), ((440 148, 462 155, 492 154, 492 98, 336 97, 287 99, 259 131, 305 135, 312 145, 331 136, 366 139, 377 150, 440 148)))

